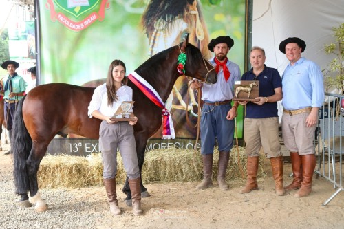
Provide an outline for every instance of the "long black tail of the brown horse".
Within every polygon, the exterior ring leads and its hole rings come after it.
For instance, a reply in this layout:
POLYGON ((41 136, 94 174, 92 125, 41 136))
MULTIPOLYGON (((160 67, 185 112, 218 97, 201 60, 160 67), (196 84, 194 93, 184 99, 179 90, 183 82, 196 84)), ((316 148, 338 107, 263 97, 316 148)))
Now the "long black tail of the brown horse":
POLYGON ((17 111, 13 120, 12 138, 10 140, 14 160, 14 186, 18 195, 28 193, 30 189, 26 160, 30 155, 32 139, 23 120, 23 103, 25 97, 17 105, 17 111))

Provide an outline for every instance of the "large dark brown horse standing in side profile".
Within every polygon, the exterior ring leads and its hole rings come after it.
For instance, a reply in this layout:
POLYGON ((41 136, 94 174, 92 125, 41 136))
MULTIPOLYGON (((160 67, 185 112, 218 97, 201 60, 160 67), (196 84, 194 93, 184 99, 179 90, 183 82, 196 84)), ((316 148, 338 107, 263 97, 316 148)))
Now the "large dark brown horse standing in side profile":
MULTIPOLYGON (((181 52, 185 52, 187 57, 185 70, 188 76, 205 83, 215 83, 217 80, 211 63, 186 39, 179 45, 155 54, 135 70, 164 102, 180 76, 177 63, 181 52)), ((127 85, 133 89, 133 100, 136 101, 133 112, 138 116, 138 123, 134 126, 134 135, 141 171, 147 140, 162 124, 162 108, 131 81, 127 85)), ((52 83, 35 87, 19 102, 11 146, 14 154, 14 184, 16 193, 21 195, 22 206, 30 206, 31 202, 35 204, 36 211, 47 210, 39 194, 37 171, 47 146, 56 134, 65 137, 68 133, 75 133, 87 138, 99 138, 100 120, 87 116, 93 92, 94 88, 90 87, 52 83)), ((126 200, 131 200, 128 179, 123 192, 127 195, 126 200)), ((141 192, 147 192, 142 182, 141 192)))

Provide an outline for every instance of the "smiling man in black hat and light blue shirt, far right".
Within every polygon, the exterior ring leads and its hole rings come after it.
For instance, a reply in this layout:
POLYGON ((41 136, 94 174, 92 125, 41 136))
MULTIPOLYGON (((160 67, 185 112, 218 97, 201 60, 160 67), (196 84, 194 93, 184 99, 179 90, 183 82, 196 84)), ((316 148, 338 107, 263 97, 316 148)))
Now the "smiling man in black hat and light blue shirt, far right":
POLYGON ((290 62, 282 75, 282 135, 290 151, 294 177, 285 189, 299 189, 294 197, 306 197, 312 191, 316 164, 313 140, 324 100, 323 74, 316 63, 301 57, 305 47, 305 41, 298 37, 279 44, 290 62))

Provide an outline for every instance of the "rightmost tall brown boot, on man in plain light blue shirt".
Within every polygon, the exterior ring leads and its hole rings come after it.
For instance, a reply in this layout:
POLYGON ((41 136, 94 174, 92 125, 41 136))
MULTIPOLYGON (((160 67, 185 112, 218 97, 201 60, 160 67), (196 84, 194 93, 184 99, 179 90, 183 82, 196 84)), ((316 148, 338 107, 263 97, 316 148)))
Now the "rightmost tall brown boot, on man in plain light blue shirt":
POLYGON ((307 197, 312 192, 312 179, 316 164, 314 154, 302 155, 302 172, 303 179, 300 190, 295 193, 294 197, 307 197))

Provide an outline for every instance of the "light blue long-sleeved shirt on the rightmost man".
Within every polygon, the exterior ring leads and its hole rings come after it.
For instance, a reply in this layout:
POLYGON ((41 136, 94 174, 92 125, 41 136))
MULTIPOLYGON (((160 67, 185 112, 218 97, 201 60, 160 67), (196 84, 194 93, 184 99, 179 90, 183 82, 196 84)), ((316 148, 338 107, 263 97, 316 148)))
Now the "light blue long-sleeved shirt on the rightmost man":
POLYGON ((293 66, 289 63, 282 75, 282 91, 284 109, 321 107, 325 94, 319 65, 305 58, 293 66))

